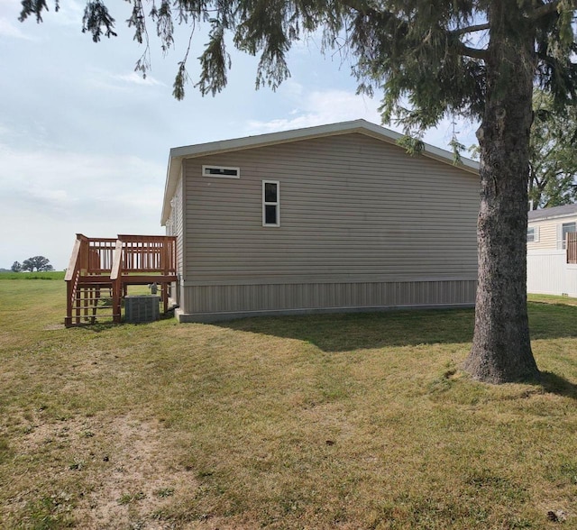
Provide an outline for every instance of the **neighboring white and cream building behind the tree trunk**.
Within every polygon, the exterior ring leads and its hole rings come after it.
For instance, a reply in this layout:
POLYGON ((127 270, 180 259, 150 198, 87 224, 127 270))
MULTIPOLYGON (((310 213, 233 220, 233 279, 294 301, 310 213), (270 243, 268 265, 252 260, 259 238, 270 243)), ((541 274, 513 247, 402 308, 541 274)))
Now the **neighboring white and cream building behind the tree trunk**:
POLYGON ((567 253, 569 234, 575 233, 577 205, 528 213, 527 292, 577 297, 577 263, 567 253))

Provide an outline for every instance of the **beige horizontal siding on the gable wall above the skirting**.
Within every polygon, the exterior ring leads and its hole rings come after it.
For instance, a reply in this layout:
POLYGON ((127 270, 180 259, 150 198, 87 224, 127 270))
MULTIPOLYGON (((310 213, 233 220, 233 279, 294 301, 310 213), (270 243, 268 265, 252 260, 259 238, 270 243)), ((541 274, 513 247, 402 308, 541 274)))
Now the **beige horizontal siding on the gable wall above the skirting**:
POLYGON ((366 135, 186 160, 184 176, 185 285, 476 279, 478 177, 366 135), (262 180, 279 181, 279 227, 262 226, 262 180))

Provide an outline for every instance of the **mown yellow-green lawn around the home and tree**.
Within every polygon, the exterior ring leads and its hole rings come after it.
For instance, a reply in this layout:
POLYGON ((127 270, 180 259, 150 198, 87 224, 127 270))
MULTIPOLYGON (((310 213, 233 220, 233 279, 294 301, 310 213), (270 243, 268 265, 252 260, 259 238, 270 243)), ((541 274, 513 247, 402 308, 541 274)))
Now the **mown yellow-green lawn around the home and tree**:
POLYGON ((469 310, 63 329, 4 282, 7 528, 577 527, 577 306, 531 297, 540 385, 459 370, 469 310))

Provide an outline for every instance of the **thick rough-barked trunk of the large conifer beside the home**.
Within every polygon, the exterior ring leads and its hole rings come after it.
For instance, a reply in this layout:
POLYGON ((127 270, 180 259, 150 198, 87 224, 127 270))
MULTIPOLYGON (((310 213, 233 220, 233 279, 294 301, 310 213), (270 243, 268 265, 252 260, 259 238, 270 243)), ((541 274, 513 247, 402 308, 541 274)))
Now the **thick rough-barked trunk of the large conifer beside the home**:
POLYGON ((464 369, 503 383, 538 379, 527 318, 527 182, 535 72, 534 34, 517 0, 496 0, 481 127, 479 283, 472 350, 464 369))

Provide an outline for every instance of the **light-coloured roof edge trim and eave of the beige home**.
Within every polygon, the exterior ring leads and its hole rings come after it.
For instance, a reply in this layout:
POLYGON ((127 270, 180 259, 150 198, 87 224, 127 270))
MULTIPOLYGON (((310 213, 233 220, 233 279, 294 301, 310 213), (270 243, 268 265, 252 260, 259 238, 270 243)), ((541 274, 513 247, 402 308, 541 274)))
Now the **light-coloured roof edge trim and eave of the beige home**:
MULTIPOLYGON (((234 140, 224 140, 220 142, 198 143, 183 147, 175 147, 169 153, 169 165, 167 169, 166 184, 164 187, 164 202, 162 206, 162 215, 160 225, 164 226, 170 215, 170 199, 174 196, 177 183, 182 168, 182 160, 194 159, 206 155, 218 153, 243 151, 268 145, 276 145, 287 142, 299 142, 303 140, 312 140, 313 138, 322 138, 326 136, 335 136, 340 134, 361 133, 371 136, 382 142, 397 144, 402 138, 402 134, 385 129, 375 123, 366 120, 354 120, 352 122, 330 123, 328 125, 318 125, 316 127, 306 127, 303 129, 294 129, 291 131, 282 131, 280 133, 259 134, 256 136, 246 136, 234 140)), ((424 144, 424 150, 421 156, 439 160, 449 165, 453 163, 453 153, 439 149, 428 143, 424 144)), ((479 173, 479 163, 474 160, 462 159, 458 167, 471 173, 479 173)))

